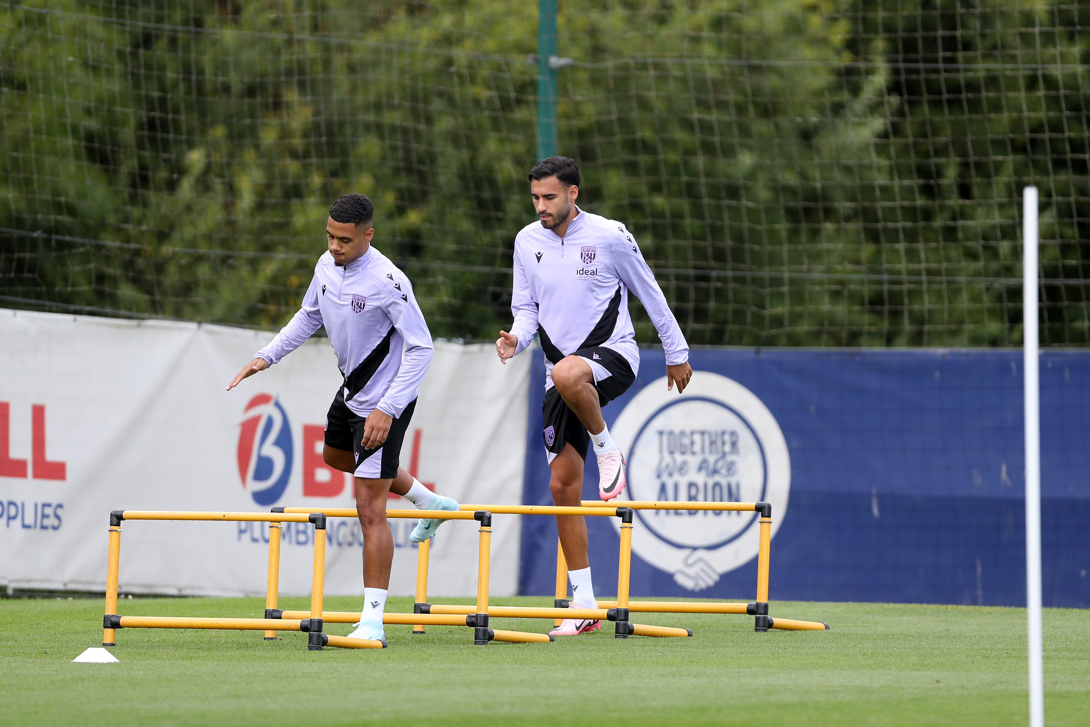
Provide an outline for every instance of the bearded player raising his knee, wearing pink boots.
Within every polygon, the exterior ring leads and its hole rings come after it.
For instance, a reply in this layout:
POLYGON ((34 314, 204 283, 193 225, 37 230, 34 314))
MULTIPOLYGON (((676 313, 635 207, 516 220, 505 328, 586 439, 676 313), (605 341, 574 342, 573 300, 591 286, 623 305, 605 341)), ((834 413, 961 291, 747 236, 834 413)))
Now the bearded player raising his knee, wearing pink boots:
MULTIPOLYGON (((519 353, 538 334, 545 352, 545 450, 556 505, 578 506, 583 490, 583 460, 594 443, 598 495, 604 500, 625 489, 625 457, 602 407, 635 380, 640 351, 628 314, 632 291, 655 324, 666 350, 667 389, 685 390, 692 376, 689 346, 666 304, 655 276, 623 225, 576 206, 579 168, 568 157, 549 157, 530 170, 530 195, 538 221, 514 239, 514 290, 511 332, 500 331, 500 361, 519 353)), ((572 601, 597 608, 586 556, 582 516, 558 516, 557 530, 568 561, 572 601)), ((596 620, 565 619, 552 633, 594 631, 596 620)))

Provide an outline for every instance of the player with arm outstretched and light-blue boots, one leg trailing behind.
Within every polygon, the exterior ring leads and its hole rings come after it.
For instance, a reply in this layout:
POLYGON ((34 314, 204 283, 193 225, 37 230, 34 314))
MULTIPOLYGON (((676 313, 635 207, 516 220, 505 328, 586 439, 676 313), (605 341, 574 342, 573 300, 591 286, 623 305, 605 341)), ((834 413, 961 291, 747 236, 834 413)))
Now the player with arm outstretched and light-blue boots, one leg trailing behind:
MULTIPOLYGON (((362 194, 346 194, 334 203, 326 220, 329 250, 314 267, 303 306, 227 389, 277 363, 325 325, 344 383, 326 415, 323 455, 329 467, 355 475, 363 526, 364 605, 350 635, 385 641, 383 613, 393 559, 387 493, 420 509, 457 510, 458 502, 433 494, 398 467, 416 389, 434 349, 409 278, 371 245, 374 217, 374 205, 362 194)), ((410 540, 434 536, 441 523, 421 520, 410 540)))

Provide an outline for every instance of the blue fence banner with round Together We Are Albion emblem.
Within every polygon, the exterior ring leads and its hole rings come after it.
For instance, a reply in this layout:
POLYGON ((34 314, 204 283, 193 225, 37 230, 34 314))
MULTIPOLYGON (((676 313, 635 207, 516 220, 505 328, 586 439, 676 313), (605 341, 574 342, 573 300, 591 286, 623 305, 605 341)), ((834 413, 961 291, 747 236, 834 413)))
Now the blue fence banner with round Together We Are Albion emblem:
MULTIPOLYGON (((550 504, 531 355, 523 501, 550 504)), ((1020 351, 695 350, 690 363, 701 401, 666 395, 649 349, 606 423, 629 447, 634 499, 780 498, 772 599, 1025 605, 1020 351)), ((1041 444, 1044 605, 1090 607, 1090 352, 1041 355, 1041 444)), ((597 498, 593 455, 583 497, 597 498)), ((749 519, 641 513, 632 595, 753 599, 749 519)), ((598 595, 616 592, 610 521, 588 519, 598 595)), ((555 555, 555 522, 523 518, 520 593, 553 593, 555 555)))

